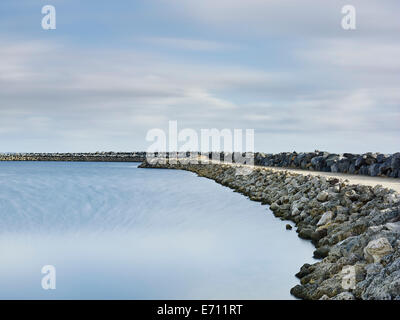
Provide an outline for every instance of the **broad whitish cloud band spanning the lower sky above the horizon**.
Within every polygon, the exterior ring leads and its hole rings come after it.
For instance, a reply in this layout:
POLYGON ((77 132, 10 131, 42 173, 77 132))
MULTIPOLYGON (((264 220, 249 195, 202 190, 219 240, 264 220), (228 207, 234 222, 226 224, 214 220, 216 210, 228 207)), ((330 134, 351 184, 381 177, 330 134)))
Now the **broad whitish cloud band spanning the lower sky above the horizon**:
MULTIPOLYGON (((385 131, 392 137, 398 128, 398 90, 381 90, 373 82, 313 90, 318 78, 305 81, 307 73, 296 69, 201 66, 132 51, 60 51, 41 43, 27 51, 13 43, 1 47, 7 48, 0 53, 7 64, 0 68, 8 69, 0 79, 0 141, 7 145, 17 139, 25 150, 38 150, 50 136, 54 144, 46 144, 46 151, 145 149, 147 130, 166 127, 169 120, 197 130, 254 128, 256 139, 257 134, 294 134, 298 141, 312 133, 319 136, 316 141, 346 132, 358 139, 385 131)), ((327 62, 325 68, 330 68, 327 62)), ((273 141, 274 146, 265 141, 262 148, 282 147, 279 139, 273 141)))

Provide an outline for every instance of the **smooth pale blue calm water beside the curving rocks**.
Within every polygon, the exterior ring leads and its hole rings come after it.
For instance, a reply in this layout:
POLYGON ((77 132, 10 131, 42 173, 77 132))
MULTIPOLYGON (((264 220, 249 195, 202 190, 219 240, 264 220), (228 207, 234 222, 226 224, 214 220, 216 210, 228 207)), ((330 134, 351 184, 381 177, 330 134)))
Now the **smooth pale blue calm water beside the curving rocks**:
POLYGON ((0 298, 292 298, 310 243, 212 180, 137 166, 0 163, 0 298))

